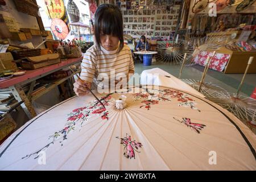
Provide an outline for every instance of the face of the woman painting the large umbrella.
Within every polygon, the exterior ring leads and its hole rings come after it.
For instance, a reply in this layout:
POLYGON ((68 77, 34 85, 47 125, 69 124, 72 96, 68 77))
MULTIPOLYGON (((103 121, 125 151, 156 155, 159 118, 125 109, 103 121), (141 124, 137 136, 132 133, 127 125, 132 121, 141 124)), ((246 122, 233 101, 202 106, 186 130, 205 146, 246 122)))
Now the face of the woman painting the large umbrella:
POLYGON ((114 51, 117 49, 119 39, 114 35, 105 35, 101 33, 101 46, 104 47, 107 51, 114 51))

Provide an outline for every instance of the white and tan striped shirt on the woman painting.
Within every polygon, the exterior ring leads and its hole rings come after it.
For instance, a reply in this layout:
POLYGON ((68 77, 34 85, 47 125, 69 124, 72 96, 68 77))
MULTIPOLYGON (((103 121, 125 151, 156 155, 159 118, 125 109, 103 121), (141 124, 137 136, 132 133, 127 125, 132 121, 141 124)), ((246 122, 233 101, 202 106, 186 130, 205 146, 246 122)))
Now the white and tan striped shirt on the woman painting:
POLYGON ((134 71, 131 50, 129 46, 124 45, 118 53, 117 50, 106 51, 103 47, 100 50, 97 45, 93 45, 86 51, 81 69, 80 76, 82 80, 92 82, 96 88, 97 86, 108 88, 110 78, 113 78, 113 75, 115 75, 115 80, 119 80, 117 75, 120 75, 120 73, 128 76, 129 71, 134 71), (110 77, 110 73, 112 77, 110 77), (106 85, 106 80, 102 81, 102 77, 104 77, 104 80, 108 77, 108 85, 106 85))

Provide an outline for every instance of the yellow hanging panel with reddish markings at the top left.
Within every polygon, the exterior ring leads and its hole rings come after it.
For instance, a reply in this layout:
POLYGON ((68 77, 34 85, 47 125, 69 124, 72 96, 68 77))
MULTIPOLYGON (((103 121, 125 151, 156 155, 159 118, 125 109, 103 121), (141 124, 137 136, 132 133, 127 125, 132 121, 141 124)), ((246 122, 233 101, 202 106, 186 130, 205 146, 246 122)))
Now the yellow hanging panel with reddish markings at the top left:
POLYGON ((44 0, 46 4, 46 13, 52 18, 62 19, 65 15, 65 6, 63 0, 44 0))

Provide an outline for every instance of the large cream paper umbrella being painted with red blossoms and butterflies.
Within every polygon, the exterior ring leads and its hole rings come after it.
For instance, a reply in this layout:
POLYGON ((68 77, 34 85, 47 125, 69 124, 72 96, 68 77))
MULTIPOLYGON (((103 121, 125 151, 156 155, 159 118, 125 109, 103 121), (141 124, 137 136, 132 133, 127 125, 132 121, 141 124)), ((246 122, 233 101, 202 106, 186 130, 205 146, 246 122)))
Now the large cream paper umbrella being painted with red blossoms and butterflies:
POLYGON ((0 169, 256 169, 255 135, 213 102, 164 87, 96 94, 106 109, 73 97, 26 123, 0 147, 0 169))

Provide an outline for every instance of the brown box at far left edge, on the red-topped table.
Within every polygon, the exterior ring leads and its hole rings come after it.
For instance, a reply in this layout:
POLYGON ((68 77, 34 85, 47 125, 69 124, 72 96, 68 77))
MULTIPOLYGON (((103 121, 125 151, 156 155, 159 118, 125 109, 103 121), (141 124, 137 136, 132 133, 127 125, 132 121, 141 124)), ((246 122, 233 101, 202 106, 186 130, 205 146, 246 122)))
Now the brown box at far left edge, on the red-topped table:
POLYGON ((13 55, 10 52, 0 53, 0 72, 4 69, 17 69, 13 55))

